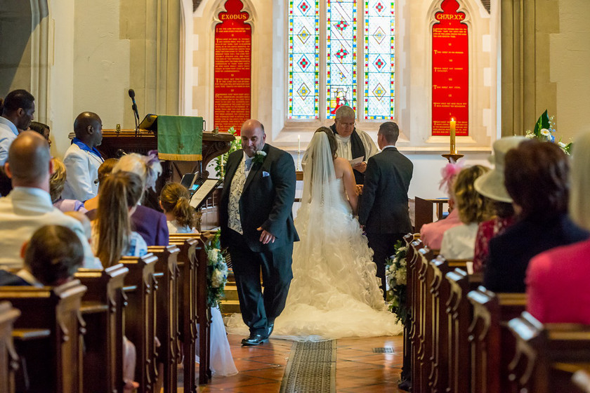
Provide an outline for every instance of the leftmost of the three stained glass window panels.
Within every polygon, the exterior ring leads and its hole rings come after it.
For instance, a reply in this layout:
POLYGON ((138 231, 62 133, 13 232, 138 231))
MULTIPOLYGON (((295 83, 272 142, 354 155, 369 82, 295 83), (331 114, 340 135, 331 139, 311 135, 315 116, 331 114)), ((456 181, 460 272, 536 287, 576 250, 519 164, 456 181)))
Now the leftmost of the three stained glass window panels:
POLYGON ((319 112, 318 1, 289 1, 289 119, 315 119, 319 112))

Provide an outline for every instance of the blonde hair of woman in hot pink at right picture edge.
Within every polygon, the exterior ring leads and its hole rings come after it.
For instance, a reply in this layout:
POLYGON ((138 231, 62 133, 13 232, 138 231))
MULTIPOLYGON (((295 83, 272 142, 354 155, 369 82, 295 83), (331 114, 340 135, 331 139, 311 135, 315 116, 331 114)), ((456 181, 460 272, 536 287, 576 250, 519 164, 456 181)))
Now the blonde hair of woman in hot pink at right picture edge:
POLYGON ((590 229, 590 209, 586 199, 590 192, 590 132, 575 139, 570 171, 570 217, 584 229, 590 229))

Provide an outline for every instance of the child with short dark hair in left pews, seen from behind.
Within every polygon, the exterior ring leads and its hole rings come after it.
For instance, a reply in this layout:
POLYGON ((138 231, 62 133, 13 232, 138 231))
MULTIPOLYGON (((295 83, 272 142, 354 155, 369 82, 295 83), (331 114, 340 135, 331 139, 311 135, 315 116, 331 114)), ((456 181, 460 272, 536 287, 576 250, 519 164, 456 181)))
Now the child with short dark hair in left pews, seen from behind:
POLYGON ((72 229, 45 225, 21 249, 25 266, 15 274, 0 270, 0 286, 60 286, 84 261, 84 248, 72 229))

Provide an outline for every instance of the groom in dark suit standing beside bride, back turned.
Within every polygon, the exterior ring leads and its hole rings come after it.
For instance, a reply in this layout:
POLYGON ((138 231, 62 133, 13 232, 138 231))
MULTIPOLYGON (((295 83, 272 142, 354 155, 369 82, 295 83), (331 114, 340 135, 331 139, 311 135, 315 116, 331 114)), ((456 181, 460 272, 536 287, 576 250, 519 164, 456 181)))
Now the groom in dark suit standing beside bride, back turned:
POLYGON ((395 251, 395 243, 412 231, 407 190, 414 165, 395 147, 399 135, 400 129, 393 121, 386 121, 379 127, 377 144, 381 153, 367 162, 358 211, 358 220, 365 226, 369 247, 374 252, 373 261, 384 298, 386 259, 395 251))

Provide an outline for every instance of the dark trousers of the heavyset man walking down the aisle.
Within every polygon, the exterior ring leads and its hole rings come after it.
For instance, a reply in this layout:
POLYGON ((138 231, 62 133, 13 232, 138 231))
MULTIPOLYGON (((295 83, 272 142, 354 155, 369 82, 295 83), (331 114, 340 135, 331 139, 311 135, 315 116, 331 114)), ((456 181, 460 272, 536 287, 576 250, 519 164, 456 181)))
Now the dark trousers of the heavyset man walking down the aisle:
MULTIPOLYGON (((232 229, 229 229, 231 232, 232 229)), ((284 309, 293 278, 293 244, 272 251, 251 251, 244 237, 233 232, 228 247, 244 324, 250 333, 265 334, 284 309), (264 292, 260 284, 260 275, 264 292)))

